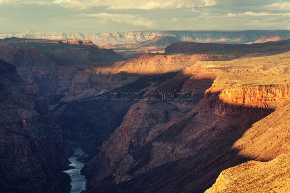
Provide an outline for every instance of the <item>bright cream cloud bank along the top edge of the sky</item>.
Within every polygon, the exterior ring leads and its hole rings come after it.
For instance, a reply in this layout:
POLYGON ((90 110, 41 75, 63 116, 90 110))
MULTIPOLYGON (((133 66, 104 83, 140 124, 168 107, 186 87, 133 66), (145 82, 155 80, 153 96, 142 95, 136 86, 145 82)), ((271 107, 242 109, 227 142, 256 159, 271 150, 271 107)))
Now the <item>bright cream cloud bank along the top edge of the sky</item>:
POLYGON ((213 0, 55 0, 54 3, 60 4, 65 8, 88 9, 93 7, 106 7, 107 10, 127 10, 127 9, 177 9, 209 7, 216 3, 213 0))

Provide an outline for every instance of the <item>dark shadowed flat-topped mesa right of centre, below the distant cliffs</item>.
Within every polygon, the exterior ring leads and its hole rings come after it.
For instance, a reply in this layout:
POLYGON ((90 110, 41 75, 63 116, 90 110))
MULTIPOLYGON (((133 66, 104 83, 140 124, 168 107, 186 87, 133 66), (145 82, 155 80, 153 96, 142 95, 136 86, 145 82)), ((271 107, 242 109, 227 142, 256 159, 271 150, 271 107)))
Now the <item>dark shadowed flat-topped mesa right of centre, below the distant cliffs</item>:
POLYGON ((194 43, 194 42, 183 42, 183 43, 172 43, 165 48, 165 53, 194 53, 194 52, 205 52, 217 48, 224 48, 235 44, 224 44, 224 43, 194 43))

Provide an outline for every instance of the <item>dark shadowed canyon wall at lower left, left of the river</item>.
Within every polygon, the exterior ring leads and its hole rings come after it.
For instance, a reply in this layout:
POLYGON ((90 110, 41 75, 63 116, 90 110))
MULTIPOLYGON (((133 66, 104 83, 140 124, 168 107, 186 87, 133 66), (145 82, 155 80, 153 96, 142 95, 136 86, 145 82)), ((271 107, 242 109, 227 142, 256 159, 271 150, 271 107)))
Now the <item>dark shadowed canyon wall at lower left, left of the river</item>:
POLYGON ((61 186, 62 132, 37 85, 0 58, 0 188, 3 192, 68 192, 61 186))

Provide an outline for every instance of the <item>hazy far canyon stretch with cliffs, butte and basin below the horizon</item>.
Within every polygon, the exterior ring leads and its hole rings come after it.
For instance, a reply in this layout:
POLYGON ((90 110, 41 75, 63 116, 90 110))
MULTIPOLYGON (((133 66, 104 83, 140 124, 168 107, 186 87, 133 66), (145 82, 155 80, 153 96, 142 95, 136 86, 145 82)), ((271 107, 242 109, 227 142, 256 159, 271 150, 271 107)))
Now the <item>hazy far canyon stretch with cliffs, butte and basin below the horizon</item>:
MULTIPOLYGON (((171 43, 193 42, 193 43, 219 43, 219 44, 241 44, 241 43, 264 43, 267 41, 279 41, 290 39, 289 30, 143 30, 132 32, 114 33, 77 33, 77 32, 34 32, 0 34, 0 39, 5 38, 31 38, 31 39, 51 39, 70 41, 91 40, 99 48, 113 49, 126 59, 138 57, 143 52, 163 53, 166 46, 171 43)), ((184 44, 187 45, 187 44, 184 44)), ((198 45, 201 44, 191 44, 198 45)), ((215 45, 215 44, 214 44, 215 45)), ((212 45, 213 46, 213 45, 212 45)), ((218 45, 216 45, 218 46, 218 45)), ((220 45, 222 46, 222 45, 220 45)), ((201 45, 199 49, 192 49, 187 52, 206 51, 211 48, 209 45, 201 45)), ((184 48, 184 49, 186 49, 184 48)), ((170 47, 167 52, 170 52, 170 47)), ((183 49, 183 50, 184 50, 183 49)), ((214 48, 212 48, 214 49, 214 48)), ((182 52, 182 50, 171 52, 182 52)))

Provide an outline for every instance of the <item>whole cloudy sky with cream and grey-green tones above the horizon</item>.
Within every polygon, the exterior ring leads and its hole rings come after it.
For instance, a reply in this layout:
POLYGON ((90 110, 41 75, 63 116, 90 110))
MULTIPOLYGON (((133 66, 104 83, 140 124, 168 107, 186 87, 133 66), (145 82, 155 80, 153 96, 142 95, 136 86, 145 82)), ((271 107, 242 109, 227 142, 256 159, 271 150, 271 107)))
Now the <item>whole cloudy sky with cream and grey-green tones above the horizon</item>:
POLYGON ((0 32, 290 29, 290 1, 0 0, 0 32))

